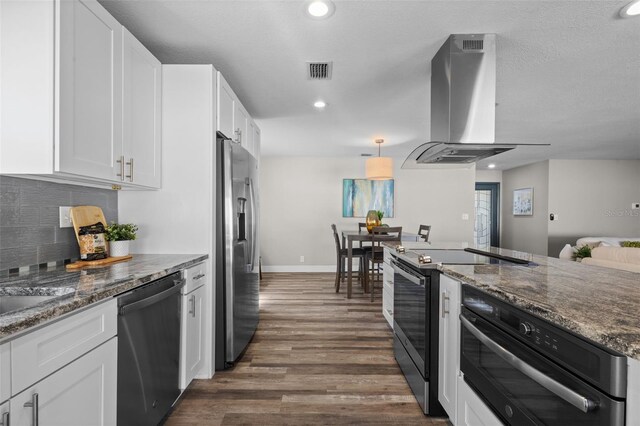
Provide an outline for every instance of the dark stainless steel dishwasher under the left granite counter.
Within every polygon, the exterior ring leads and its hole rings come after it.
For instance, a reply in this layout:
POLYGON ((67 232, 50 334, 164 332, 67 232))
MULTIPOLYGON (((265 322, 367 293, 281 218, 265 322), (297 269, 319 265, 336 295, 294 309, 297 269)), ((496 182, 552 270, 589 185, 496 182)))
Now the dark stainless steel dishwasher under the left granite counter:
POLYGON ((180 395, 180 273, 118 296, 118 424, 157 425, 180 395))

